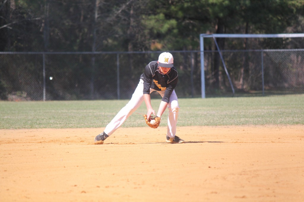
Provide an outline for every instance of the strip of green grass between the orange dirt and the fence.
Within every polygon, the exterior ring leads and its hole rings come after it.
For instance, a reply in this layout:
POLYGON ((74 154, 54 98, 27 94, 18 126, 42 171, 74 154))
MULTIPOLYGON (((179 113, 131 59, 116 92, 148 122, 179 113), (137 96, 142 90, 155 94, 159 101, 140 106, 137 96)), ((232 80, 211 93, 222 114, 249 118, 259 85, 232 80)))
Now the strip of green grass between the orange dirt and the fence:
MULTIPOLYGON (((128 100, 0 101, 0 129, 105 127, 128 100)), ((160 99, 152 99, 154 110, 160 99)), ((179 126, 304 124, 304 95, 179 99, 179 126)), ((138 113, 146 113, 143 104, 138 113)), ((168 110, 161 126, 167 124, 168 110)), ((122 127, 145 126, 132 114, 122 127)))

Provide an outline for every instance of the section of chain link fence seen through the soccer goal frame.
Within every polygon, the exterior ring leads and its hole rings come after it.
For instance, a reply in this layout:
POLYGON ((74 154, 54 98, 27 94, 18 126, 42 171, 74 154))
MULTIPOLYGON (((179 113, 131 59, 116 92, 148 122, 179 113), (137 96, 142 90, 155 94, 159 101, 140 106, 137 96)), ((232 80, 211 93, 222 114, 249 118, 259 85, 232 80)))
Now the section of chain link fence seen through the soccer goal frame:
MULTIPOLYGON (((206 94, 212 94, 216 62, 221 63, 216 51, 206 51, 206 94)), ((224 50, 222 51, 236 95, 270 95, 304 93, 304 49, 295 50, 224 50)), ((223 68, 219 65, 219 95, 231 92, 223 68)), ((215 94, 213 92, 213 94, 215 94)))

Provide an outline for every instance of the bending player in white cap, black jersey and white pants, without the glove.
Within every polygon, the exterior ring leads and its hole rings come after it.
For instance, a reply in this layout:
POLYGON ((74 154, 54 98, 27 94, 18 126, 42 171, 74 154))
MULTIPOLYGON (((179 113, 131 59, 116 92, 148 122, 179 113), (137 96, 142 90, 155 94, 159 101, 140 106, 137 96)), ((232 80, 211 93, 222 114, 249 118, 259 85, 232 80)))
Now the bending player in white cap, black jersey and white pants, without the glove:
POLYGON ((164 52, 158 57, 158 61, 151 61, 140 75, 140 81, 135 89, 131 100, 123 107, 112 121, 105 127, 105 130, 97 135, 95 142, 103 141, 113 134, 126 119, 145 101, 147 106, 147 118, 155 116, 151 106, 150 93, 157 91, 162 99, 157 111, 157 117, 161 118, 166 108, 169 109, 167 139, 168 143, 184 143, 185 141, 175 135, 176 122, 178 118, 178 100, 174 88, 178 82, 178 73, 173 66, 173 56, 164 52))

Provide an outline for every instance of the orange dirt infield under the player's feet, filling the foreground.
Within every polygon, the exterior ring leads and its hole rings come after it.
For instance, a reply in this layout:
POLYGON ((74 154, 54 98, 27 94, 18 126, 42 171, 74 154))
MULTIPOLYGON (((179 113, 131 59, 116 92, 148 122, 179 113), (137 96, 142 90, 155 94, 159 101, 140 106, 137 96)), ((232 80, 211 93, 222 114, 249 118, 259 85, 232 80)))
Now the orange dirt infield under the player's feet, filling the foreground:
POLYGON ((304 126, 0 130, 0 201, 304 201, 304 126))

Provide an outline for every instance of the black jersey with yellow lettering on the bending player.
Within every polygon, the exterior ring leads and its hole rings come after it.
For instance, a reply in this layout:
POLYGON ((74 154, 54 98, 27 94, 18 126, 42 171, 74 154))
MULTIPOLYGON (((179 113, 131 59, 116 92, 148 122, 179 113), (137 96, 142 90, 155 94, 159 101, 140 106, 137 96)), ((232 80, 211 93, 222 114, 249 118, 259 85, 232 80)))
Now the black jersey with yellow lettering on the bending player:
POLYGON ((169 98, 177 85, 178 74, 172 67, 167 74, 159 72, 157 61, 150 62, 145 67, 145 72, 140 75, 143 80, 143 94, 150 94, 150 88, 156 91, 165 91, 162 101, 169 103, 169 98))

